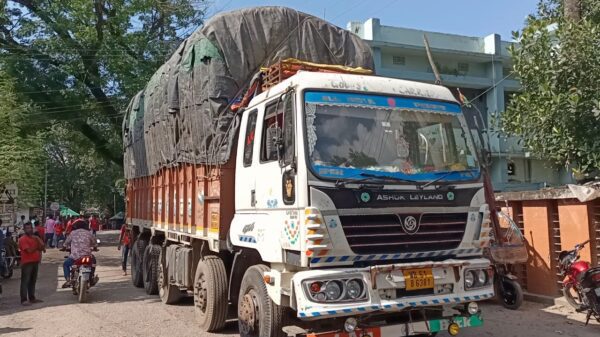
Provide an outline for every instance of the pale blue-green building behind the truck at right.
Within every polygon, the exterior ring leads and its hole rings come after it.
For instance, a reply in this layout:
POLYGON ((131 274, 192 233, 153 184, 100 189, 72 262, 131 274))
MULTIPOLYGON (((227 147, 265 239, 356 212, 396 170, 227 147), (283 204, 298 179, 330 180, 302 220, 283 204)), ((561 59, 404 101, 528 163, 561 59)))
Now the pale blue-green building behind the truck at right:
MULTIPOLYGON (((350 22, 347 29, 371 45, 378 75, 433 83, 423 43, 426 34, 443 85, 457 97, 459 88, 472 106, 465 113, 475 116, 480 111, 488 127, 496 123, 510 94, 520 88, 518 79, 511 74, 507 48, 512 42, 503 41, 498 34, 469 37, 426 32, 384 26, 377 18, 350 22)), ((496 132, 490 132, 489 137, 494 189, 532 190, 572 182, 567 169, 532 157, 520 146, 518 138, 496 132)))

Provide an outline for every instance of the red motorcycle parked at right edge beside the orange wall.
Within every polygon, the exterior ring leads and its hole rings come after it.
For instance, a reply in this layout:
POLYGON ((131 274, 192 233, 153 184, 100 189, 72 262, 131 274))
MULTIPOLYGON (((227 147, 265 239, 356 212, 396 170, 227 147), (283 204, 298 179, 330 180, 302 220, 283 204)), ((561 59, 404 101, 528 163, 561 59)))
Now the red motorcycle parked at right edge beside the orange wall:
POLYGON ((577 244, 574 249, 562 251, 558 256, 558 266, 564 277, 565 299, 577 312, 587 311, 586 325, 592 316, 600 322, 600 267, 579 261, 579 251, 589 242, 577 244))

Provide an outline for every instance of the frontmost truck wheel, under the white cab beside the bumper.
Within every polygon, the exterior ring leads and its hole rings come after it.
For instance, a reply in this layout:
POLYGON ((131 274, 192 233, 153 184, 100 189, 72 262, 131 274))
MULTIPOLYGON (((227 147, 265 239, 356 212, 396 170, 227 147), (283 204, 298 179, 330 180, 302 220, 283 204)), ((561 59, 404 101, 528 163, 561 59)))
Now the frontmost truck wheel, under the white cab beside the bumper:
POLYGON ((269 268, 255 265, 246 270, 238 297, 238 326, 242 337, 284 337, 287 308, 269 297, 263 280, 269 268))

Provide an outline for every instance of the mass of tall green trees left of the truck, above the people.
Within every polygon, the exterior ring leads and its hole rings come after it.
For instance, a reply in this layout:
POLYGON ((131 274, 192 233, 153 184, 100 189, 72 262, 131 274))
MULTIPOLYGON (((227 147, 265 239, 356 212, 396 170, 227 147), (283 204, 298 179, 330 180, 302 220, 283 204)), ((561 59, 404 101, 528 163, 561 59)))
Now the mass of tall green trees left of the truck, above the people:
POLYGON ((124 108, 205 8, 204 0, 0 0, 0 184, 17 182, 38 205, 47 167, 48 201, 112 209, 123 185, 124 108))

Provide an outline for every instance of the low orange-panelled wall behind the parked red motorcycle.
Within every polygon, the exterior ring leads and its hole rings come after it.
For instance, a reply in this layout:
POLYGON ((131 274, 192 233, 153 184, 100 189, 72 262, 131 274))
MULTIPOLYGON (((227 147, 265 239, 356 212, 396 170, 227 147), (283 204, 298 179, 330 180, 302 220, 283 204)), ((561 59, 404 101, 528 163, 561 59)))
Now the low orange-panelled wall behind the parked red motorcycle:
POLYGON ((600 199, 582 203, 568 189, 505 192, 498 205, 508 202, 513 219, 522 224, 529 261, 520 275, 526 289, 535 294, 558 296, 558 254, 590 240, 581 259, 600 262, 600 199))

